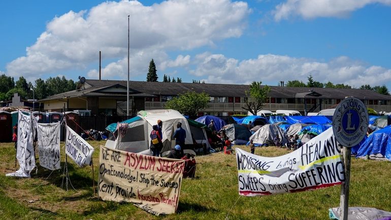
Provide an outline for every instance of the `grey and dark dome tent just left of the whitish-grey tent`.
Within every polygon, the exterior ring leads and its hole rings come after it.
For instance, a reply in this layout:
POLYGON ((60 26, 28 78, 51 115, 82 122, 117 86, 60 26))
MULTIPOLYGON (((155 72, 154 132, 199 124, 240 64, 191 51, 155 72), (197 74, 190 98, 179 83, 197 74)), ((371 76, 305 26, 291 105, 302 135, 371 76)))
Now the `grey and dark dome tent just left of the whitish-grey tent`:
POLYGON ((221 130, 225 131, 233 144, 246 144, 251 136, 250 130, 241 124, 227 124, 221 130))

